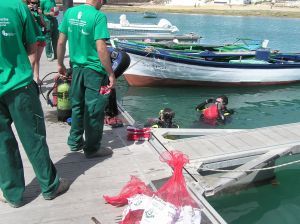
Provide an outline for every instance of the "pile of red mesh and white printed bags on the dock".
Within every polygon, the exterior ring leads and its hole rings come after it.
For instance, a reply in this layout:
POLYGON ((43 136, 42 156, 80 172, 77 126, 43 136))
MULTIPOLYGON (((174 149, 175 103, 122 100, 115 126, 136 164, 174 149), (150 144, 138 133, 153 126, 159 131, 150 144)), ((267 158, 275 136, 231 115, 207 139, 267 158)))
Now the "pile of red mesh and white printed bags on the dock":
POLYGON ((153 192, 137 177, 131 176, 119 195, 103 196, 109 204, 115 206, 128 204, 119 224, 169 224, 175 221, 178 224, 200 223, 199 205, 190 196, 182 172, 183 166, 189 162, 187 155, 180 151, 165 152, 160 160, 173 168, 173 175, 157 192, 153 192))

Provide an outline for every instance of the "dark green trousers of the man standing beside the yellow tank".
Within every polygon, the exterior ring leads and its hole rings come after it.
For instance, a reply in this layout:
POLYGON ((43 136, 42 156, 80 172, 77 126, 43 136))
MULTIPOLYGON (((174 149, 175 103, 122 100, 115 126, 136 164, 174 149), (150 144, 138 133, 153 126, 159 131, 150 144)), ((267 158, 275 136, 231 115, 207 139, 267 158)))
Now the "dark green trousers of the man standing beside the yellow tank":
POLYGON ((71 83, 72 124, 68 145, 76 151, 84 145, 84 153, 92 154, 101 146, 104 109, 109 95, 101 95, 100 87, 108 77, 89 68, 74 68, 71 83), (85 140, 83 139, 83 134, 85 140))

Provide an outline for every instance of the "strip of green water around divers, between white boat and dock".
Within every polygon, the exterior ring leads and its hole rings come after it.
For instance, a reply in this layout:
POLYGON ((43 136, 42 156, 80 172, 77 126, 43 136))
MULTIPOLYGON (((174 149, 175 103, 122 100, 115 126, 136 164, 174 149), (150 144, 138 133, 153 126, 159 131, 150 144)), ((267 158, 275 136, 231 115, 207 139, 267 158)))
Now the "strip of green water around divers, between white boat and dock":
POLYGON ((175 121, 182 128, 257 128, 300 121, 300 84, 264 88, 141 88, 121 82, 121 103, 140 123, 158 116, 164 107, 175 111, 175 121), (230 122, 217 127, 200 122, 195 106, 222 94, 229 98, 228 108, 236 111, 230 122))

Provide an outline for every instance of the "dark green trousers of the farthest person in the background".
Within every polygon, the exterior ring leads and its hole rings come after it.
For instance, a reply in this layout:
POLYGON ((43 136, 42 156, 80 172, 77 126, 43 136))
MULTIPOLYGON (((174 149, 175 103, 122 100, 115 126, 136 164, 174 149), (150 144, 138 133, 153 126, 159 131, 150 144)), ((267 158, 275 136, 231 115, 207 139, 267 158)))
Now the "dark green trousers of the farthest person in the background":
POLYGON ((58 31, 58 22, 56 18, 49 19, 47 21, 48 25, 48 32, 45 34, 46 38, 46 56, 47 58, 54 58, 57 59, 57 41, 59 36, 58 31))

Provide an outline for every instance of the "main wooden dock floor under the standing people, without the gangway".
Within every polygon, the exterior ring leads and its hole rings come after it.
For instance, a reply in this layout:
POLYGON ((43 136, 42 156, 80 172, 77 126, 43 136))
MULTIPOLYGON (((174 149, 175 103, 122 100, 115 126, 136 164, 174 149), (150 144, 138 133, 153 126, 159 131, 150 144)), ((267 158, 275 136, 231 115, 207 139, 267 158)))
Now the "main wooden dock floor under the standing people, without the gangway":
MULTIPOLYGON (((67 63, 66 63, 67 64, 67 63)), ((42 57, 41 78, 57 69, 56 61, 42 57)), ((43 91, 53 85, 53 76, 45 80, 43 91)), ((0 224, 94 224, 92 217, 102 224, 118 223, 125 207, 116 208, 103 200, 103 195, 117 195, 131 175, 146 183, 171 175, 167 165, 148 142, 129 142, 126 128, 104 128, 103 145, 111 146, 114 154, 108 158, 86 159, 82 152, 70 152, 67 137, 70 126, 57 122, 56 108, 46 105, 40 97, 46 120, 47 141, 51 158, 61 177, 72 184, 69 191, 52 201, 43 199, 31 164, 19 142, 23 158, 26 191, 25 206, 14 209, 0 203, 0 224)))

